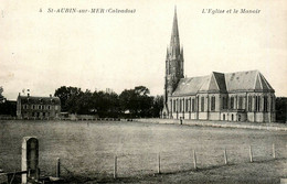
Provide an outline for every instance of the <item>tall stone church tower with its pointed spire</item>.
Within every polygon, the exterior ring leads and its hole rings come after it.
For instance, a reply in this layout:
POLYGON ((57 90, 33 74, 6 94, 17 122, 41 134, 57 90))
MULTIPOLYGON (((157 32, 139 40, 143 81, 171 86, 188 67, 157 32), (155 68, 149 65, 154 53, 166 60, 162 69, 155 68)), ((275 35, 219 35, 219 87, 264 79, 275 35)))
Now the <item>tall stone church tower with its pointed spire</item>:
POLYGON ((183 74, 183 48, 180 47, 179 28, 177 18, 177 8, 171 30, 170 45, 167 48, 166 56, 166 82, 162 116, 169 117, 168 97, 176 90, 178 83, 184 77, 183 74))

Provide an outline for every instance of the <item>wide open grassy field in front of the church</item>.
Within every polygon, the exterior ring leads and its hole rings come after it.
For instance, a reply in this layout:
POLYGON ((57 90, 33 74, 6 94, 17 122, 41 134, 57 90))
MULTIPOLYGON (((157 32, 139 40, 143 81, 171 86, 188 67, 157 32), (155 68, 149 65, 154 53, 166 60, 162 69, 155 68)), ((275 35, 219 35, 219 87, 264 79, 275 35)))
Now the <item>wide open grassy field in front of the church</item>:
POLYGON ((26 136, 39 139, 41 174, 54 175, 56 158, 61 158, 62 176, 77 183, 278 183, 287 177, 287 133, 279 131, 116 121, 0 121, 0 169, 21 169, 21 141, 26 136), (248 163, 249 145, 255 163, 248 163), (193 150, 198 171, 193 170, 193 150), (163 174, 153 176, 159 152, 163 174), (111 180, 115 155, 120 177, 116 181, 111 180))

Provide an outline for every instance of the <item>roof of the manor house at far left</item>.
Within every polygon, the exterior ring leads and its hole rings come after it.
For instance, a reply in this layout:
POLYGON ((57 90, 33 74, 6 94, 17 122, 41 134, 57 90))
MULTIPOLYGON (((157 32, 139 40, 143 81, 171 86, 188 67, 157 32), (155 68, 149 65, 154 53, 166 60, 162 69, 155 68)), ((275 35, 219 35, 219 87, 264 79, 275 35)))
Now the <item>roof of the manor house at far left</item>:
POLYGON ((59 97, 18 96, 18 100, 21 100, 21 104, 61 105, 59 97))

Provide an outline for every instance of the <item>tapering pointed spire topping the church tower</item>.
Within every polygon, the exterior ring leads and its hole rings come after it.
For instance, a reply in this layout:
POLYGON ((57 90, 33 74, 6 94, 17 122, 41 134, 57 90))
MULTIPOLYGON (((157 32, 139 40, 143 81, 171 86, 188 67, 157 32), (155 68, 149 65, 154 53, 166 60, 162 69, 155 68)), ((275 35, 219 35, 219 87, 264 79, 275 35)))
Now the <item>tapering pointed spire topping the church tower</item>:
POLYGON ((172 56, 177 56, 178 54, 180 54, 180 39, 179 39, 177 7, 174 7, 174 17, 172 23, 171 37, 170 37, 170 52, 172 56))

